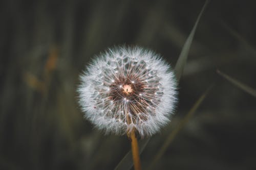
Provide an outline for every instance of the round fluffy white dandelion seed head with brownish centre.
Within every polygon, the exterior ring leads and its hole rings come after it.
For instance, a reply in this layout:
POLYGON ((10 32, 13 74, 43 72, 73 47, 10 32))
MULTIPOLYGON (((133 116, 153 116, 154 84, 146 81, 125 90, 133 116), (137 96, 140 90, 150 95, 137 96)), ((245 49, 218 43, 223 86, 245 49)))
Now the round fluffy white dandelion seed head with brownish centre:
POLYGON ((169 122, 176 104, 176 80, 160 55, 118 46, 97 56, 80 76, 84 116, 106 133, 136 129, 151 136, 169 122))

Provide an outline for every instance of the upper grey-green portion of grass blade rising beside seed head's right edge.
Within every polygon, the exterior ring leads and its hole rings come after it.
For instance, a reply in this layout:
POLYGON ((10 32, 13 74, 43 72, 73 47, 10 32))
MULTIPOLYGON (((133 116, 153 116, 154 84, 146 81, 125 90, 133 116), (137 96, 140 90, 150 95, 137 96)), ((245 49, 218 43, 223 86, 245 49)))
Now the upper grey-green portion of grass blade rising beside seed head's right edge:
POLYGON ((206 8, 207 4, 208 4, 209 1, 205 1, 204 3, 204 6, 200 12, 200 14, 198 15, 198 18, 196 20, 196 23, 192 29, 192 31, 190 32, 189 36, 187 37, 187 40, 185 42, 185 44, 183 45, 182 47, 182 50, 181 50, 181 53, 180 53, 180 56, 178 58, 178 61, 176 63, 176 66, 175 66, 175 72, 176 72, 176 78, 177 80, 179 81, 180 78, 181 78, 181 75, 182 75, 182 72, 183 72, 183 69, 184 69, 184 66, 186 64, 186 61, 187 61, 187 56, 188 56, 188 52, 189 52, 189 49, 190 49, 190 46, 191 46, 191 43, 192 43, 192 40, 194 38, 194 35, 195 35, 195 32, 196 32, 196 29, 197 29, 197 26, 198 26, 198 22, 204 12, 204 9, 206 8))

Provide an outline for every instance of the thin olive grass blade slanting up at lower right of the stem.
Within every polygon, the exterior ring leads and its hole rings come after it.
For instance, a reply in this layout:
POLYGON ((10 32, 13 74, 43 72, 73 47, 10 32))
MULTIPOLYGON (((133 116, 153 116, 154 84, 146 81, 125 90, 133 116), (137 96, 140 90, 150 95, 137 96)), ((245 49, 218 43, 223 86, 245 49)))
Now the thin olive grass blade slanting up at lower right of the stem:
POLYGON ((200 96, 200 98, 196 101, 196 103, 193 105, 193 107, 188 111, 188 113, 185 115, 185 117, 180 121, 177 128, 175 128, 168 136, 168 138, 165 140, 164 144, 158 151, 158 153, 155 155, 151 165, 147 169, 153 169, 158 160, 163 156, 166 149, 169 147, 170 143, 174 140, 174 138, 177 136, 177 134, 180 132, 180 130, 187 124, 188 120, 191 118, 191 116, 196 112, 198 107, 202 104, 202 102, 205 99, 205 96, 208 94, 210 89, 212 88, 212 85, 200 96))

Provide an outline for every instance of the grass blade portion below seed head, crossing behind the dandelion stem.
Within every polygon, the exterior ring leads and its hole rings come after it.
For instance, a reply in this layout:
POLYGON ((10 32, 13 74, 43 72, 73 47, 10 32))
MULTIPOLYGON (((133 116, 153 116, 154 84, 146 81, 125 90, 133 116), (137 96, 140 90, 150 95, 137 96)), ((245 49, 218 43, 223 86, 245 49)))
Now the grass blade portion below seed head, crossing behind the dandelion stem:
MULTIPOLYGON (((146 147, 146 144, 148 143, 148 141, 150 141, 150 138, 147 139, 143 139, 139 141, 139 150, 140 150, 140 154, 142 153, 142 151, 144 150, 144 148, 146 147)), ((131 169, 133 167, 133 158, 132 158, 132 152, 129 151, 124 157, 123 159, 118 163, 118 165, 116 166, 115 170, 124 170, 124 169, 131 169)))

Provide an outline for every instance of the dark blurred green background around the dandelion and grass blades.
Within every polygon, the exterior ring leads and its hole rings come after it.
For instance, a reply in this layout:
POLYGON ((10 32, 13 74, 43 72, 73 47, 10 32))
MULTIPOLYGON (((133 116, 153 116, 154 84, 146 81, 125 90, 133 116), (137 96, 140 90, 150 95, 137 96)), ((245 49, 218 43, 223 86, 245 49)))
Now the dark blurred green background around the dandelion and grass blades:
MULTIPOLYGON (((175 66, 204 1, 1 1, 0 169, 114 169, 130 150, 103 135, 77 104, 78 76, 94 55, 141 45, 175 66)), ((141 155, 150 165, 167 136, 214 84, 155 169, 255 169, 254 1, 211 1, 196 31, 172 123, 141 155)))

